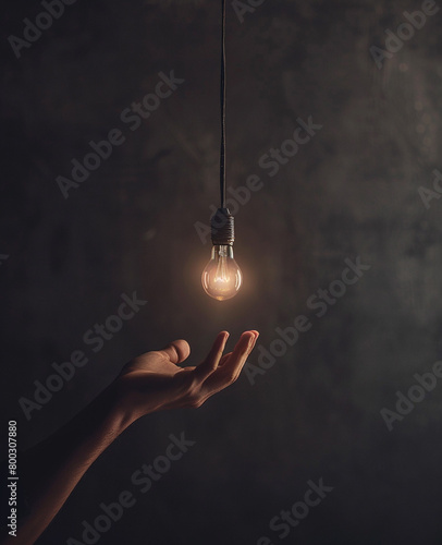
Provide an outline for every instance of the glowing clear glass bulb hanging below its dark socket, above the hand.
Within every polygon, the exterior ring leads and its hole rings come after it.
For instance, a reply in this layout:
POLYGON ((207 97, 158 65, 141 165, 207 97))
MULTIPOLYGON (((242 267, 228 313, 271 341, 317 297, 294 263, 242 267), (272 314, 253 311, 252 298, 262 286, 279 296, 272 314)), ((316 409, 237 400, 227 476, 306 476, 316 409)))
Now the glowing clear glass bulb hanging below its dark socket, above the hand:
POLYGON ((243 275, 233 257, 231 245, 213 245, 211 258, 202 271, 201 281, 206 293, 218 301, 225 301, 236 295, 243 275))

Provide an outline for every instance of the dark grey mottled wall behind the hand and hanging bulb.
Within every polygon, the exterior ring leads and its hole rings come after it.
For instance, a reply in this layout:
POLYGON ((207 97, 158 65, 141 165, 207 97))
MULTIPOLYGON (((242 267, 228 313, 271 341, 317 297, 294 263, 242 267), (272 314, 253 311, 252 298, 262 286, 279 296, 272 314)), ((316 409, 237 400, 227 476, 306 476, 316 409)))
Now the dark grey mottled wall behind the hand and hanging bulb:
POLYGON ((369 52, 417 9, 268 0, 241 23, 228 3, 228 185, 263 186, 236 214, 244 288, 219 303, 194 227, 218 206, 219 2, 81 0, 20 59, 8 37, 42 8, 2 5, 1 407, 21 447, 137 353, 184 338, 197 363, 221 329, 256 328, 269 350, 278 327, 311 323, 254 385, 244 374, 198 411, 136 423, 38 543, 82 542, 125 489, 137 502, 99 543, 442 543, 442 379, 391 432, 380 413, 442 352, 442 202, 418 193, 442 169, 442 12, 381 70, 369 52), (172 70, 185 82, 131 131, 121 112, 172 70), (322 129, 270 177, 261 156, 309 116, 322 129), (64 199, 57 177, 113 128, 124 144, 64 199), (370 269, 318 317, 307 300, 357 256, 370 269), (94 353, 85 331, 133 291, 148 303, 94 353), (89 363, 27 421, 19 398, 73 350, 89 363), (182 432, 196 445, 142 494, 131 475, 182 432), (270 520, 320 477, 333 491, 281 540, 270 520))

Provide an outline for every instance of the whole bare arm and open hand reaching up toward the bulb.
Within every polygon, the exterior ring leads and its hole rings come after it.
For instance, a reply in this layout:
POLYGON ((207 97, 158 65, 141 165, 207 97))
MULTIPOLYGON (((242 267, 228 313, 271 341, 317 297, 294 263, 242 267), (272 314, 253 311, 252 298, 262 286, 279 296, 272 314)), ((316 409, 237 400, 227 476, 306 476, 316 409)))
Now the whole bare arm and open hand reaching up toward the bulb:
POLYGON ((69 424, 22 455, 21 479, 32 513, 25 520, 20 520, 19 513, 17 536, 7 537, 2 545, 34 544, 94 461, 138 419, 157 411, 198 408, 232 385, 258 335, 255 330, 243 332, 233 352, 223 355, 229 332, 221 331, 197 366, 180 366, 191 353, 185 340, 127 363, 69 424))

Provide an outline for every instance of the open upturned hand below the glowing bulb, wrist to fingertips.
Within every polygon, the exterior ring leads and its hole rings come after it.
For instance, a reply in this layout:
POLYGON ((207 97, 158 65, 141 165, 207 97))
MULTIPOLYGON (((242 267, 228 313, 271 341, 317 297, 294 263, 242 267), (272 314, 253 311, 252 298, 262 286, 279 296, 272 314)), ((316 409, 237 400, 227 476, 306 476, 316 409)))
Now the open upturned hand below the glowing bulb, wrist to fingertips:
POLYGON ((229 332, 221 331, 198 366, 179 366, 191 353, 182 339, 135 358, 115 380, 125 416, 132 423, 155 411, 200 407, 237 379, 258 336, 255 330, 243 332, 233 352, 222 355, 229 332))

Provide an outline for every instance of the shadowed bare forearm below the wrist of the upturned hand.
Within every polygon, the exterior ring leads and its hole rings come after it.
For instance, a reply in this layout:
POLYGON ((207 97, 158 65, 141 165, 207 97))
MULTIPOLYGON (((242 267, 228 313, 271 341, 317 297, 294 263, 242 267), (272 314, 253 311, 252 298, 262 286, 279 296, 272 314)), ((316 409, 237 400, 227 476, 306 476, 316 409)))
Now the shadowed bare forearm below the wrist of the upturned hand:
POLYGON ((61 431, 26 452, 22 481, 32 510, 25 520, 19 519, 17 536, 4 545, 32 545, 88 468, 132 421, 110 387, 61 431))

